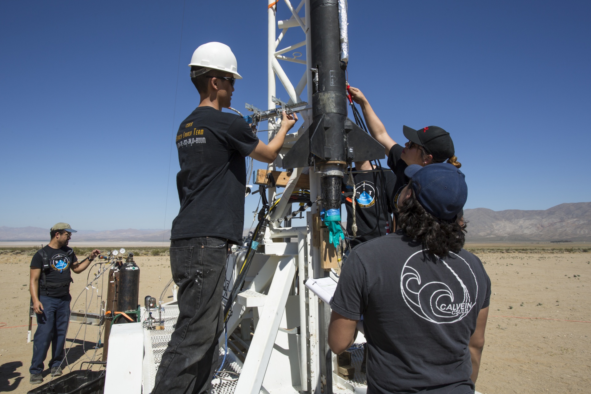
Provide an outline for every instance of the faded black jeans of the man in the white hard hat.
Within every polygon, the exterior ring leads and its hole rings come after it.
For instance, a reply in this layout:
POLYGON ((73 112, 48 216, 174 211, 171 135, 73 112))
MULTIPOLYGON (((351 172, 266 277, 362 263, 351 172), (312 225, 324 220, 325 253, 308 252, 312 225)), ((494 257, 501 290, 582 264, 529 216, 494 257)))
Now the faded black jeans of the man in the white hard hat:
POLYGON ((179 314, 152 394, 209 392, 219 354, 216 333, 223 327, 227 246, 225 239, 215 237, 171 242, 179 314))

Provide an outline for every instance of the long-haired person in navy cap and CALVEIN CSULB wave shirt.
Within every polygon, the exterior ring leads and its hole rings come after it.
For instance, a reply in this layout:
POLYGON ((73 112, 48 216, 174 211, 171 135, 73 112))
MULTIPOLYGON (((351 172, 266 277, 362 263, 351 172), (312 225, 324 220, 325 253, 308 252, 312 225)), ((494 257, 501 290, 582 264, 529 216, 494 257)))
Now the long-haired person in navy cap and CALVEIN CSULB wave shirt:
POLYGON ((363 315, 368 393, 475 391, 491 280, 467 250, 465 175, 452 164, 409 165, 399 229, 356 246, 331 302, 330 349, 353 343, 363 315))

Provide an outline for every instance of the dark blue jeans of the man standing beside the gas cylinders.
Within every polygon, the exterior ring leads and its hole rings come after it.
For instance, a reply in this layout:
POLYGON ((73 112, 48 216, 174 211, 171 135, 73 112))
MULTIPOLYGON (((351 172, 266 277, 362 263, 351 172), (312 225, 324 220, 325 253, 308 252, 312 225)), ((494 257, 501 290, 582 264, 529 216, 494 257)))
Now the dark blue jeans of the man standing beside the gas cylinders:
POLYGON ((40 295, 43 314, 37 315, 37 331, 33 337, 33 359, 29 372, 43 372, 43 361, 51 344, 51 360, 48 367, 59 367, 64 359, 66 331, 70 320, 70 295, 63 297, 47 297, 40 295))

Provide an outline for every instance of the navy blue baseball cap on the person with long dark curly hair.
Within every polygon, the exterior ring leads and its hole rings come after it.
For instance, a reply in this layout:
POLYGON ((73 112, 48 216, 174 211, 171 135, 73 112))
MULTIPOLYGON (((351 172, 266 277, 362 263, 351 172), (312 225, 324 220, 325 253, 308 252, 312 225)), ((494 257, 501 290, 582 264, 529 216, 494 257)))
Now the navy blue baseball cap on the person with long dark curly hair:
POLYGON ((437 163, 425 167, 411 164, 404 174, 413 180, 413 190, 421 206, 439 219, 454 219, 466 204, 466 175, 453 164, 437 163))

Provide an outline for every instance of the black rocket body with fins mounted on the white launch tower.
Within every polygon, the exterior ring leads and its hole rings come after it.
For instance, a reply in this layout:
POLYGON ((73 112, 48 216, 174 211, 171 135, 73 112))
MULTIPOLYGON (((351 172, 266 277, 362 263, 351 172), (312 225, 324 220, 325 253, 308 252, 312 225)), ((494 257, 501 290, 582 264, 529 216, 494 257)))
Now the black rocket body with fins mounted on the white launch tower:
POLYGON ((340 209, 349 162, 384 158, 384 148, 347 118, 338 0, 310 0, 310 35, 313 122, 285 155, 282 167, 314 165, 322 172, 323 209, 340 209))

